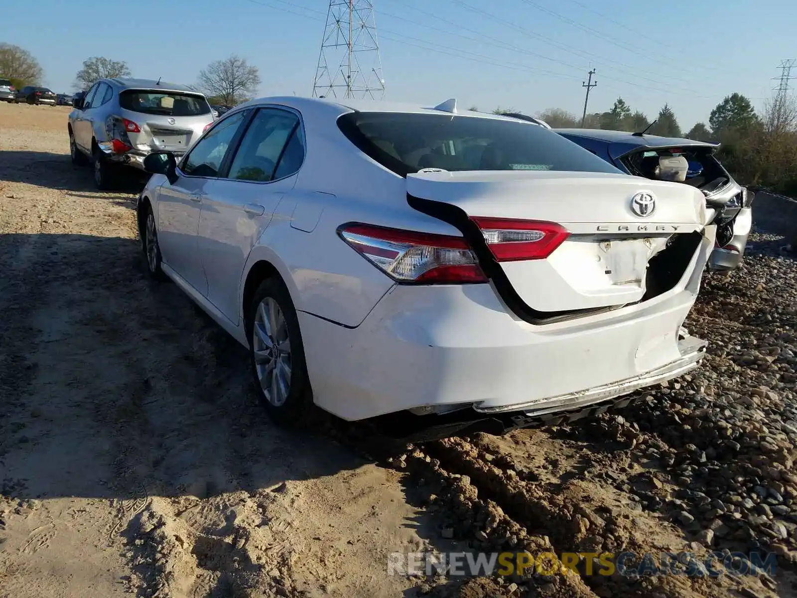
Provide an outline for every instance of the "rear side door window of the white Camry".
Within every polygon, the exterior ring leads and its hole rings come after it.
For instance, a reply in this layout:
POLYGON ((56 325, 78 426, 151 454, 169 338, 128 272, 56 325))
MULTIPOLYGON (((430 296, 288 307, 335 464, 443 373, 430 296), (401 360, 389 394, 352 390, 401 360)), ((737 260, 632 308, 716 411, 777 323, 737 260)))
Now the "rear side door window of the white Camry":
POLYGON ((230 166, 230 179, 267 182, 294 174, 304 161, 304 143, 294 132, 299 117, 261 108, 249 124, 230 166))

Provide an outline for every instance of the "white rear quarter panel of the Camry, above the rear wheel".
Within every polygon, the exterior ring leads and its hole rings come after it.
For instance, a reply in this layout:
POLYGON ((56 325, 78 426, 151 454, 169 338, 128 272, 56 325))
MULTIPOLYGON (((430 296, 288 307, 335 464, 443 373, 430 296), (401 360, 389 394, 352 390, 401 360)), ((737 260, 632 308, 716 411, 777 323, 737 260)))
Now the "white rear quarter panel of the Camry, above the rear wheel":
POLYGON ((273 220, 247 259, 249 269, 269 261, 281 273, 296 309, 354 327, 395 284, 337 234, 346 222, 459 234, 406 203, 406 179, 387 171, 354 147, 334 118, 303 115, 307 148, 296 187, 286 193, 273 220), (294 222, 296 221, 296 222, 294 222))

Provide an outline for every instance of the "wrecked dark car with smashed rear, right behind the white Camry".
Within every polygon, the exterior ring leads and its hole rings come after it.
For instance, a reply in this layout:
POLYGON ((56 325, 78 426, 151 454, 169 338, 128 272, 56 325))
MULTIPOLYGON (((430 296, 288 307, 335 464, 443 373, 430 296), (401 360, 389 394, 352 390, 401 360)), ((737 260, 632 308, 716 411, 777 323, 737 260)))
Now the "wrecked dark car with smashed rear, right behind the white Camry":
POLYGON ((752 229, 755 194, 736 183, 716 158, 714 154, 720 144, 603 129, 554 131, 621 171, 646 179, 667 179, 669 164, 673 159, 681 160, 682 178, 669 180, 700 189, 705 195, 706 207, 715 211, 717 245, 709 268, 729 270, 739 266, 752 229))

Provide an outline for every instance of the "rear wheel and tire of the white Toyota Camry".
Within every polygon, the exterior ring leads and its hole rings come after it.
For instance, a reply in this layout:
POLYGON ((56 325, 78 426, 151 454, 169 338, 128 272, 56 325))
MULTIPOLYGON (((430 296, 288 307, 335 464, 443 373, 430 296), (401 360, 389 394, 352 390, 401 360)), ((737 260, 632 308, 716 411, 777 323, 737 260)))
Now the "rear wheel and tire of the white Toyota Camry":
POLYGON ((279 277, 261 282, 246 314, 249 363, 265 411, 285 427, 308 427, 316 419, 304 360, 299 319, 279 277))

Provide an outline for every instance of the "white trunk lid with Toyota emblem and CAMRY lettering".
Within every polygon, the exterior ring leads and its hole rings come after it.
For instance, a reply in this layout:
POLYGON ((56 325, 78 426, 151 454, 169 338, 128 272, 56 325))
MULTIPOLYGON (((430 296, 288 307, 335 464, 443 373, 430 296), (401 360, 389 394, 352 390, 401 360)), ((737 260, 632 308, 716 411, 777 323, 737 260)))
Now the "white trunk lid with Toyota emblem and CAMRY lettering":
POLYGON ((693 234, 706 223, 705 199, 697 189, 622 174, 438 170, 407 175, 406 181, 410 204, 459 227, 477 252, 481 245, 480 259, 489 250, 488 232, 482 226, 477 238, 473 225, 463 224, 463 212, 468 218, 555 222, 569 232, 545 258, 494 260, 485 268, 498 274, 497 286, 505 279, 507 293, 516 293, 534 313, 641 301, 650 261, 674 235, 693 234), (635 214, 635 197, 642 203, 652 197, 654 208, 636 204, 644 214, 635 214))

